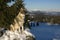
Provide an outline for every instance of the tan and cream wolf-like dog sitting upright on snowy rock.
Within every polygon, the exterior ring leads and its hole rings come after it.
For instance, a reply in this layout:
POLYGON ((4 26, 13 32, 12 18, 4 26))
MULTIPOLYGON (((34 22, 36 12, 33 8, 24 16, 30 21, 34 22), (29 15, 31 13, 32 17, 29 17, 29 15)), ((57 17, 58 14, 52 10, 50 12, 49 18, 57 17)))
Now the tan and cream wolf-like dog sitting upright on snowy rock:
POLYGON ((10 30, 22 32, 24 30, 23 27, 24 18, 25 18, 24 10, 21 8, 19 14, 14 19, 14 23, 10 25, 10 30))

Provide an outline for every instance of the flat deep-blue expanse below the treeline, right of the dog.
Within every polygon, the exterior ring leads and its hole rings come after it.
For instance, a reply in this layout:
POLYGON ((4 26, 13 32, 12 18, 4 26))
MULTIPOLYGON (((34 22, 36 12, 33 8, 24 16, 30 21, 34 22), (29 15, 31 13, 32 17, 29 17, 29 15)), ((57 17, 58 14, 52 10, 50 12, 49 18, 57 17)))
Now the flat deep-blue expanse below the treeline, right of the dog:
POLYGON ((39 26, 32 26, 31 33, 36 40, 60 40, 60 25, 39 23, 39 26))

